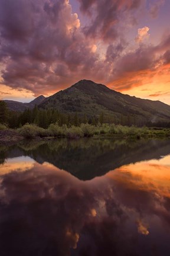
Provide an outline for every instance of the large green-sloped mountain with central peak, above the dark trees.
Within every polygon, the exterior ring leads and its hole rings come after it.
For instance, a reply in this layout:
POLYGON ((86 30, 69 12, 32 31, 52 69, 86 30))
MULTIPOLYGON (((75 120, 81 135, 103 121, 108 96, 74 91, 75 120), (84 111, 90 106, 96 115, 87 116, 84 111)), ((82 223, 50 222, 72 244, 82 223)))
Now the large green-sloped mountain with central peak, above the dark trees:
POLYGON ((87 116, 135 119, 137 123, 170 121, 170 106, 161 101, 142 100, 109 89, 93 81, 81 80, 64 91, 46 98, 40 108, 57 108, 65 113, 87 114, 87 116), (136 121, 138 120, 138 121, 136 121))

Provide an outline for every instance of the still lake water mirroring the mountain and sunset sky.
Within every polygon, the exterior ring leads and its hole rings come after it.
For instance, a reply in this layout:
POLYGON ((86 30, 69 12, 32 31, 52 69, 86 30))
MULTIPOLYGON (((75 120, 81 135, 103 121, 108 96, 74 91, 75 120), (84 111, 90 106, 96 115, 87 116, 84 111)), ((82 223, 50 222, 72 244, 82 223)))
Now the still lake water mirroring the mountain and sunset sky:
POLYGON ((170 255, 170 142, 0 146, 1 256, 170 255))

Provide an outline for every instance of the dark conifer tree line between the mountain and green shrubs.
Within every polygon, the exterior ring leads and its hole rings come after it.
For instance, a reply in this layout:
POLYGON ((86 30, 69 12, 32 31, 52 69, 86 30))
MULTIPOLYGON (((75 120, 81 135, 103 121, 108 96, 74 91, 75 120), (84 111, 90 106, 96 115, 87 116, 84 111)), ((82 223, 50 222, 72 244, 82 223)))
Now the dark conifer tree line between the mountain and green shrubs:
POLYGON ((0 123, 6 124, 9 128, 15 129, 23 126, 26 123, 37 124, 44 129, 48 128, 51 123, 58 123, 59 126, 67 124, 67 126, 80 126, 81 123, 89 123, 97 125, 98 123, 114 123, 122 124, 125 126, 157 126, 157 127, 170 127, 170 122, 158 122, 152 123, 147 120, 139 119, 138 116, 127 115, 123 116, 120 114, 119 117, 107 116, 104 113, 100 113, 99 116, 89 117, 86 114, 77 113, 61 113, 56 109, 42 110, 35 105, 35 107, 30 110, 25 109, 24 112, 10 111, 5 103, 5 101, 0 101, 0 123))

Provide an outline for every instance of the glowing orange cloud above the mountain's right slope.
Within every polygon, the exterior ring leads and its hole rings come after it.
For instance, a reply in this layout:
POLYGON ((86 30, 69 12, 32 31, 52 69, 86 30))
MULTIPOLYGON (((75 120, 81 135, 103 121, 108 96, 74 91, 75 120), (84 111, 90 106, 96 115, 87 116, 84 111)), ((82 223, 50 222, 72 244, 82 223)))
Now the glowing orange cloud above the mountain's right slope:
POLYGON ((154 97, 154 100, 170 104, 169 68, 170 64, 160 66, 156 70, 145 69, 138 72, 126 72, 121 78, 109 82, 108 86, 125 94, 151 100, 154 97))

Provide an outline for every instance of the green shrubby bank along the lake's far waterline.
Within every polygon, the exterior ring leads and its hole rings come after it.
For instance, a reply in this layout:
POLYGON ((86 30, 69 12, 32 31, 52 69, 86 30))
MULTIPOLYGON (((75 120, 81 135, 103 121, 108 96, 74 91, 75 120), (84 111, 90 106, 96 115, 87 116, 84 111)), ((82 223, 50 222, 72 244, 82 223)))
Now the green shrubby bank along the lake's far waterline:
MULTIPOLYGON (((0 130, 8 130, 8 127, 0 125, 0 130)), ((36 126, 35 124, 25 124, 21 128, 15 130, 19 136, 27 139, 35 137, 67 137, 77 139, 80 137, 92 136, 108 136, 108 137, 133 137, 134 139, 150 138, 150 137, 170 137, 170 129, 121 126, 115 124, 81 124, 80 127, 70 126, 66 124, 58 126, 58 124, 50 124, 47 129, 36 126)))

